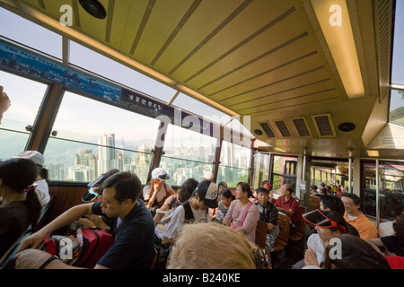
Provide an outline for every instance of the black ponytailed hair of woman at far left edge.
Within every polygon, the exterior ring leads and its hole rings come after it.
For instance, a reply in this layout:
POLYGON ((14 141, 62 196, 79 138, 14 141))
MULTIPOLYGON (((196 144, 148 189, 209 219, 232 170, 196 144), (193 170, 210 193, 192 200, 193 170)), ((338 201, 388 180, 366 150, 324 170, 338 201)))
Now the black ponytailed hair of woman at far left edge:
POLYGON ((30 187, 38 177, 37 165, 28 159, 13 158, 0 162, 0 178, 5 187, 9 187, 13 193, 26 192, 26 203, 30 214, 31 227, 35 228, 40 217, 40 199, 35 188, 30 187))

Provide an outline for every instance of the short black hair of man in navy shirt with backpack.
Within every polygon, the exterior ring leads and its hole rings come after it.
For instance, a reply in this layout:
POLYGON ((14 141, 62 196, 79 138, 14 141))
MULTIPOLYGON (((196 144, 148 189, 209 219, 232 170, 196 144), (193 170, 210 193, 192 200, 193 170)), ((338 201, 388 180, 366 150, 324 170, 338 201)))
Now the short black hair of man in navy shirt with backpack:
POLYGON ((130 171, 119 171, 114 173, 102 183, 101 189, 106 187, 115 188, 115 199, 119 203, 127 199, 136 202, 142 192, 142 182, 135 173, 130 171))

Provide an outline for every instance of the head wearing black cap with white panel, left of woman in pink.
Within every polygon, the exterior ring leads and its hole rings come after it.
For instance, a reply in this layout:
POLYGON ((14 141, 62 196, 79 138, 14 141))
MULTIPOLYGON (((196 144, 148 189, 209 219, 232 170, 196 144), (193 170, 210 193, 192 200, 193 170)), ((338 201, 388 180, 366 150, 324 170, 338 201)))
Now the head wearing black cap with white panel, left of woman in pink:
POLYGON ((200 210, 217 208, 217 185, 210 180, 202 180, 192 193, 200 210))

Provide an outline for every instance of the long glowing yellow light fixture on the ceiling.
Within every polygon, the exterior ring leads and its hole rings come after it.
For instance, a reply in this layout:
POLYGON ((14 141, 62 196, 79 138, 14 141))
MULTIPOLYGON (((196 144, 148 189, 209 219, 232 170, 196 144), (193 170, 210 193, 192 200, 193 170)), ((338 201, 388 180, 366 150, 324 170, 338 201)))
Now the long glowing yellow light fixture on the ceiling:
POLYGON ((349 99, 364 96, 346 0, 310 0, 349 99))

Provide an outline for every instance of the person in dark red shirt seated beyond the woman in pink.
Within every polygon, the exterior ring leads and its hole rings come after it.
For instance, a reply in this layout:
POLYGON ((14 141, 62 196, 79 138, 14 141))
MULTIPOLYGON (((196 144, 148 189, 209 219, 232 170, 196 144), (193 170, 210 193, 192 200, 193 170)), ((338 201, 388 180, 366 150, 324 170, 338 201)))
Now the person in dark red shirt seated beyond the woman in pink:
POLYGON ((296 230, 296 224, 299 224, 300 220, 299 204, 293 197, 294 188, 290 184, 283 185, 280 191, 281 196, 277 198, 275 206, 279 212, 285 213, 290 217, 289 233, 292 234, 296 230))

